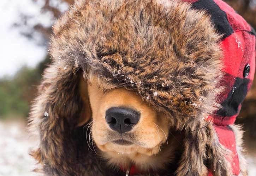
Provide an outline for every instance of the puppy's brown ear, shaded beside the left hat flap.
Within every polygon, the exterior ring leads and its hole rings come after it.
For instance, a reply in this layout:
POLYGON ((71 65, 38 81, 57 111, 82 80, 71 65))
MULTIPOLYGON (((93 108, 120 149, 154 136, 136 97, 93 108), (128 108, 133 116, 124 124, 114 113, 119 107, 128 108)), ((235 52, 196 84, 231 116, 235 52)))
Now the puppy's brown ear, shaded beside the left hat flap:
POLYGON ((89 95, 88 95, 88 85, 87 85, 87 80, 85 80, 83 76, 81 76, 79 80, 79 94, 83 102, 83 107, 81 110, 81 114, 80 114, 77 126, 82 126, 86 122, 88 122, 91 118, 91 107, 90 107, 90 101, 89 101, 89 95))

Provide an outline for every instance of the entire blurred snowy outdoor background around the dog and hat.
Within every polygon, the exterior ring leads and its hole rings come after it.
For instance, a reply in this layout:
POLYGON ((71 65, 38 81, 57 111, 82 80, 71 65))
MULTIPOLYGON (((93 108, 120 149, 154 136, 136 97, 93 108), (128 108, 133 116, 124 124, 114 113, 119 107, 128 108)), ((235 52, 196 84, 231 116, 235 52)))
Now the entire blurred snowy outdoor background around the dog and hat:
MULTIPOLYGON (((225 0, 256 29, 256 0, 225 0)), ((0 176, 30 176, 26 132, 31 101, 43 70, 52 25, 73 0, 0 0, 0 176)), ((243 124, 249 176, 256 176, 256 81, 236 121, 243 124)))

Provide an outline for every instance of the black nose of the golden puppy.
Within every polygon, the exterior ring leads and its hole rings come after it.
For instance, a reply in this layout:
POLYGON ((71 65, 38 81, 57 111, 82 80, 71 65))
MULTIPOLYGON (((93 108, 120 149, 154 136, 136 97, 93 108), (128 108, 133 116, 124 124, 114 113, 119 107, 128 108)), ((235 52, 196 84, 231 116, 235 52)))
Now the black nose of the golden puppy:
POLYGON ((138 123, 140 115, 131 108, 112 107, 106 111, 106 121, 112 130, 124 133, 138 123))

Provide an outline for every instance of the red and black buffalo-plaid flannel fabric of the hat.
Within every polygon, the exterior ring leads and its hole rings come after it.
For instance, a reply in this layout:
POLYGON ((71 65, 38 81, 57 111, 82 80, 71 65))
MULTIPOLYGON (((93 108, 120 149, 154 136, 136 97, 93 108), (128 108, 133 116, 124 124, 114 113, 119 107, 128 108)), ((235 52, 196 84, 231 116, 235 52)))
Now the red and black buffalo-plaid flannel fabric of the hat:
POLYGON ((234 175, 239 175, 236 139, 228 125, 236 120, 241 103, 254 79, 255 30, 232 7, 221 0, 183 1, 191 3, 192 8, 207 11, 216 30, 222 34, 221 48, 224 52, 222 71, 225 74, 220 84, 225 90, 219 96, 222 108, 208 119, 212 119, 215 124, 220 143, 232 151, 233 158, 230 161, 232 171, 234 175))

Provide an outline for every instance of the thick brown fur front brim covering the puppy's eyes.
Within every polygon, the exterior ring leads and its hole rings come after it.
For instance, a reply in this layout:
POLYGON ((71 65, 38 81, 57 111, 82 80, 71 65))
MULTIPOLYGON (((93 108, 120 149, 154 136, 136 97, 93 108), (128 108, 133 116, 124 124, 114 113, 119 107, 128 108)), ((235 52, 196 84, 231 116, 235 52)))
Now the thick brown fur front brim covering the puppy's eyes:
POLYGON ((222 55, 206 14, 178 1, 79 2, 54 26, 60 75, 82 68, 177 121, 213 111, 222 55))

